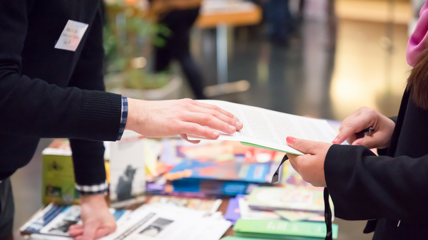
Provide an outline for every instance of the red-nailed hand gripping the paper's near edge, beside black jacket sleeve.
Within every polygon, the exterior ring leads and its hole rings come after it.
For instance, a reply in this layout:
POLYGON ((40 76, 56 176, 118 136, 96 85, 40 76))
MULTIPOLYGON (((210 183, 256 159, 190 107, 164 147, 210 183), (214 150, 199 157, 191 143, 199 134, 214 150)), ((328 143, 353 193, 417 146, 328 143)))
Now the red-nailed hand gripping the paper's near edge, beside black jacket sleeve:
POLYGON ((287 153, 292 168, 302 176, 305 182, 309 182, 314 187, 327 187, 324 175, 325 155, 331 147, 327 142, 314 142, 310 140, 287 137, 290 147, 305 153, 303 156, 287 153))

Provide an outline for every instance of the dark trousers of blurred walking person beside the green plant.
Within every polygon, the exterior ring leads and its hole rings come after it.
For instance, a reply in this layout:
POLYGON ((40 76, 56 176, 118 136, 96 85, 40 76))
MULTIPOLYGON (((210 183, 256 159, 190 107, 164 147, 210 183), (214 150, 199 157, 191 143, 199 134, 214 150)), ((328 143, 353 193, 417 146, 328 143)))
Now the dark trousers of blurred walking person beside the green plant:
POLYGON ((204 99, 202 74, 192 56, 190 56, 190 28, 199 15, 199 8, 173 10, 166 14, 159 24, 167 26, 169 36, 159 36, 165 40, 165 45, 155 47, 155 71, 165 71, 172 59, 176 59, 188 78, 190 87, 196 98, 204 99))

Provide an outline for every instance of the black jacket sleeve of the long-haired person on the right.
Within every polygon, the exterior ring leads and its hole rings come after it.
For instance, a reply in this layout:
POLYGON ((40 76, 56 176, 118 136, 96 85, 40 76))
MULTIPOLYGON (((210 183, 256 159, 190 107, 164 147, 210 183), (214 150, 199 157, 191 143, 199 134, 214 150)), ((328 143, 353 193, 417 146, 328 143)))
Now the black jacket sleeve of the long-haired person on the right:
POLYGON ((377 157, 366 147, 332 145, 324 167, 341 219, 419 221, 428 216, 428 155, 377 157))

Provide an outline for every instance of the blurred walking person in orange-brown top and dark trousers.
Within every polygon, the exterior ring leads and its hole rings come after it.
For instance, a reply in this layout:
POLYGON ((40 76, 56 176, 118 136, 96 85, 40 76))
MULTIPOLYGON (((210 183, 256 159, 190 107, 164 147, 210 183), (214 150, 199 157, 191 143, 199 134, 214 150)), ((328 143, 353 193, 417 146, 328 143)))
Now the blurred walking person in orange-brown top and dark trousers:
POLYGON ((205 95, 202 73, 190 55, 190 29, 199 16, 201 1, 149 0, 149 16, 170 30, 168 36, 158 34, 165 44, 155 46, 155 71, 166 71, 177 60, 197 99, 205 99, 205 95))

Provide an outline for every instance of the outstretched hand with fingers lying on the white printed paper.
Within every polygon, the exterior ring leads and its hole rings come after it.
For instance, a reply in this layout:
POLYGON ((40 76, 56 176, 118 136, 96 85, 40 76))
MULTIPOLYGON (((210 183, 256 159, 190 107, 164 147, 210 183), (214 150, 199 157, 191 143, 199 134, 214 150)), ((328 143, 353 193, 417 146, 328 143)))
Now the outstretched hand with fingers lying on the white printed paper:
POLYGON ((193 134, 217 139, 220 134, 215 130, 234 133, 242 128, 238 118, 215 105, 191 99, 143 101, 128 98, 126 129, 146 137, 181 135, 188 140, 186 134, 193 134))

